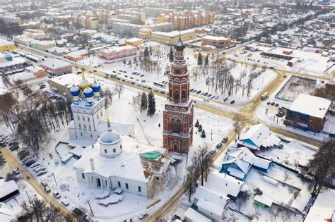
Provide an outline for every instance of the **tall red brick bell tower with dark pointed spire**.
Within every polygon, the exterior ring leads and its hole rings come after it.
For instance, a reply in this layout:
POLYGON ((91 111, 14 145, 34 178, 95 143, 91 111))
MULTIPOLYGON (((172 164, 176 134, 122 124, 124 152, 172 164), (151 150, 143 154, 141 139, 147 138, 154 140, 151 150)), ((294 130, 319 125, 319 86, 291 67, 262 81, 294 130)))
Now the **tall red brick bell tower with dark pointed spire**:
POLYGON ((170 152, 187 154, 193 141, 193 103, 189 99, 189 74, 181 38, 175 44, 175 49, 168 101, 163 112, 163 147, 170 152))

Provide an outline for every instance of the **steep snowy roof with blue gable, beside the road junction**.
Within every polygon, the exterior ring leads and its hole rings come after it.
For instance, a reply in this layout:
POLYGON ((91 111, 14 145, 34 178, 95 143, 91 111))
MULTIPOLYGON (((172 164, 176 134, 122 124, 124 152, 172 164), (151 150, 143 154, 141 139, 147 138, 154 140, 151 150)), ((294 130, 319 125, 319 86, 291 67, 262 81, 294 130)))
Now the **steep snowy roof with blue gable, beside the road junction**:
POLYGON ((259 147, 272 147, 274 144, 278 144, 281 140, 274 135, 273 132, 263 123, 253 125, 247 132, 241 135, 239 143, 249 147, 250 141, 253 143, 256 149, 259 147))

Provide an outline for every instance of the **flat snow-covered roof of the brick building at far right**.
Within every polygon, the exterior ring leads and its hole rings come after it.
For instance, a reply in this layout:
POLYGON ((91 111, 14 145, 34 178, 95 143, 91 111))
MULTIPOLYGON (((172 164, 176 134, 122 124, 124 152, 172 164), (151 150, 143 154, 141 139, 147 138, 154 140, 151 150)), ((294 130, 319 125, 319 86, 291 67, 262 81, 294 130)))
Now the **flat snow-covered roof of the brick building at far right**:
POLYGON ((290 105, 291 111, 305 113, 310 116, 324 118, 329 109, 331 101, 321 97, 307 94, 299 94, 297 99, 290 105))

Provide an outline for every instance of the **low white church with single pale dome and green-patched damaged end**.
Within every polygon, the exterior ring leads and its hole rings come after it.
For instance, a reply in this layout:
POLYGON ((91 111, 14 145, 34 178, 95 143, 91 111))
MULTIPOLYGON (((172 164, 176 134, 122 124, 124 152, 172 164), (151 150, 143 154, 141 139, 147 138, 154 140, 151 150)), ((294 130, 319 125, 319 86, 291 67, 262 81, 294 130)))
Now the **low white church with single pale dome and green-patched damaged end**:
POLYGON ((87 147, 81 159, 74 164, 79 183, 91 188, 114 190, 117 187, 144 197, 153 197, 163 190, 170 164, 167 149, 147 149, 139 152, 135 140, 112 130, 100 135, 93 147, 87 147), (126 144, 122 144, 122 140, 126 144), (149 158, 150 157, 150 158, 149 158))

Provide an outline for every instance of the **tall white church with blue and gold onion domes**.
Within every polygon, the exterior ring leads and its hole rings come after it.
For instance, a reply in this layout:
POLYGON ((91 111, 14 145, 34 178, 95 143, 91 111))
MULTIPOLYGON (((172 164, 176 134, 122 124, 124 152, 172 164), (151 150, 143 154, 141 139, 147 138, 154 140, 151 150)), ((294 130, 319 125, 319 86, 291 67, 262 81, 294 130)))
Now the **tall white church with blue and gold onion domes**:
POLYGON ((72 140, 90 140, 96 142, 105 130, 105 99, 100 97, 100 84, 94 80, 89 82, 82 73, 79 85, 72 85, 70 92, 74 98, 71 111, 74 121, 69 124, 68 130, 72 140))

